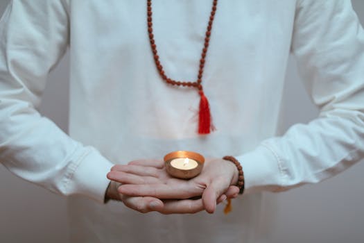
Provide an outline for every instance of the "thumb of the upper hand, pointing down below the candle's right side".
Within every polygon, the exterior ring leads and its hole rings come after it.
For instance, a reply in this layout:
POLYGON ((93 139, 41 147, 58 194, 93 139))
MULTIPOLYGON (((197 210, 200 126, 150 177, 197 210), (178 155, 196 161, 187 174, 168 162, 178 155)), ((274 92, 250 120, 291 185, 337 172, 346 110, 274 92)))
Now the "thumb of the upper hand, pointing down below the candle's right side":
POLYGON ((202 203, 205 210, 213 213, 216 210, 217 199, 225 192, 226 188, 220 180, 213 180, 202 193, 202 203))

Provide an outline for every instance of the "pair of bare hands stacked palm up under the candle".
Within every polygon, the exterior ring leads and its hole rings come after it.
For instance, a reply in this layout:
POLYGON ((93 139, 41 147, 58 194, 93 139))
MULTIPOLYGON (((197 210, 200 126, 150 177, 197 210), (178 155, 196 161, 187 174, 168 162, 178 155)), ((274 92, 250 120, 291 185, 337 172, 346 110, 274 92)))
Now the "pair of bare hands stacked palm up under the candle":
POLYGON ((239 188, 234 186, 238 171, 232 162, 222 159, 207 160, 201 174, 190 180, 169 176, 162 160, 135 160, 128 165, 115 165, 107 178, 122 183, 118 189, 121 201, 139 212, 169 214, 206 210, 212 213, 216 203, 239 193, 239 188))

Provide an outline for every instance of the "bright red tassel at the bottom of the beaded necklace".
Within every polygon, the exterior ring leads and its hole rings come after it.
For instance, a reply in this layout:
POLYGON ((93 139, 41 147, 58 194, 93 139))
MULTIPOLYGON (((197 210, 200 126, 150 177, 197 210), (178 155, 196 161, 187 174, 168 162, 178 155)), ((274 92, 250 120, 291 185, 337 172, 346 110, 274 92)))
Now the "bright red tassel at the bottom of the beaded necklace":
POLYGON ((199 93, 201 99, 200 110, 198 112, 198 133, 209 134, 212 130, 209 101, 205 97, 205 94, 202 90, 200 90, 199 93))

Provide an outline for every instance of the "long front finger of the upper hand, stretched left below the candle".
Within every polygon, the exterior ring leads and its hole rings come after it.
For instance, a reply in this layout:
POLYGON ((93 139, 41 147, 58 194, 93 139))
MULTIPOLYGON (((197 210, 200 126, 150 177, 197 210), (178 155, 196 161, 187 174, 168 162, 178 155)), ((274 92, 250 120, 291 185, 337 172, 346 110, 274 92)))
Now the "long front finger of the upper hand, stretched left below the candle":
POLYGON ((189 199, 200 196, 203 189, 189 181, 176 180, 176 183, 158 183, 154 185, 121 185, 119 193, 128 196, 153 196, 159 199, 189 199))

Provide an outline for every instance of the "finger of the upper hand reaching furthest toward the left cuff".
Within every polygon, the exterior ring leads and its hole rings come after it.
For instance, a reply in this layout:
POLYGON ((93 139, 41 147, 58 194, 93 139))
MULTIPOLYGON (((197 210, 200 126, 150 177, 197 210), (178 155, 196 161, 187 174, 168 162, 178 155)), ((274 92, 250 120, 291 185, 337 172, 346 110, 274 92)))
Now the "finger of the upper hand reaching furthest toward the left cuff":
POLYGON ((117 181, 123 184, 157 184, 160 183, 158 178, 152 176, 137 176, 128 174, 121 171, 110 171, 106 177, 109 180, 117 181))

